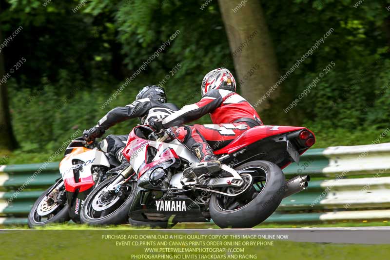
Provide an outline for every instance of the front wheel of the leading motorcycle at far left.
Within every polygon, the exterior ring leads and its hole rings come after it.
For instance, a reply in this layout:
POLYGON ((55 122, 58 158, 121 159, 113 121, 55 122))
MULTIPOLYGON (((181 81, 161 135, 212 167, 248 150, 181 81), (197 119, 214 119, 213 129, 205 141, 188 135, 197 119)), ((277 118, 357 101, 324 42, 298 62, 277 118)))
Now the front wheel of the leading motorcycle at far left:
MULTIPOLYGON (((46 196, 46 194, 52 190, 56 184, 53 184, 50 188, 48 188, 44 193, 42 193, 42 195, 40 195, 38 200, 35 201, 30 213, 28 214, 27 223, 29 227, 63 223, 70 220, 68 203, 65 201, 64 204, 59 204, 49 196, 46 196)), ((63 192, 63 189, 64 187, 60 190, 60 192, 63 192)))

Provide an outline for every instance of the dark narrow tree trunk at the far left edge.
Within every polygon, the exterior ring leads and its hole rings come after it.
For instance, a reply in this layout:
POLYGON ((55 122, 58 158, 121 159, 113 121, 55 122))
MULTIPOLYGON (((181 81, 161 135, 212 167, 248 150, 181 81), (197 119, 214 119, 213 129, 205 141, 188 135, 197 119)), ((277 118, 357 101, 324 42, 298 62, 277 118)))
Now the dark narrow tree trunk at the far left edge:
MULTIPOLYGON (((1 13, 1 6, 0 6, 1 13)), ((0 26, 0 43, 4 41, 0 26)), ((6 48, 6 47, 5 47, 6 48)), ((4 48, 4 49, 5 49, 4 48)), ((17 148, 18 143, 12 131, 11 117, 8 109, 7 80, 11 77, 4 70, 3 51, 0 53, 0 149, 13 150, 17 148)))

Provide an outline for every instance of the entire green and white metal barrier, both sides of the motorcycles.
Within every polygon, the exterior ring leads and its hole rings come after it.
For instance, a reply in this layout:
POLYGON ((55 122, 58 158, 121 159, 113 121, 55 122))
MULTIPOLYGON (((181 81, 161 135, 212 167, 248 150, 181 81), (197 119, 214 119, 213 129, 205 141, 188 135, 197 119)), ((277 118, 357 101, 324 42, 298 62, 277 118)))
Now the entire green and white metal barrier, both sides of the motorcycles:
MULTIPOLYGON (((284 199, 266 222, 390 219, 390 143, 312 149, 283 172, 286 179, 309 174, 312 181, 307 190, 284 199)), ((0 224, 27 223, 34 201, 59 177, 58 163, 44 169, 41 164, 1 166, 0 224), (15 199, 8 203, 10 198, 15 199)))

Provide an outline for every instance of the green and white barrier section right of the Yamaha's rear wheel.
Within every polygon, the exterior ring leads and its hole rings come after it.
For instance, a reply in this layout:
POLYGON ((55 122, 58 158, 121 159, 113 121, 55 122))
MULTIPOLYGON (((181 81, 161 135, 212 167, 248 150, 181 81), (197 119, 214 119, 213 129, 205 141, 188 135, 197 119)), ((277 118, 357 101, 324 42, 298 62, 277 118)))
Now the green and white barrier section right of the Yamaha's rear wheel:
POLYGON ((312 149, 283 172, 312 181, 267 222, 390 219, 390 143, 312 149))

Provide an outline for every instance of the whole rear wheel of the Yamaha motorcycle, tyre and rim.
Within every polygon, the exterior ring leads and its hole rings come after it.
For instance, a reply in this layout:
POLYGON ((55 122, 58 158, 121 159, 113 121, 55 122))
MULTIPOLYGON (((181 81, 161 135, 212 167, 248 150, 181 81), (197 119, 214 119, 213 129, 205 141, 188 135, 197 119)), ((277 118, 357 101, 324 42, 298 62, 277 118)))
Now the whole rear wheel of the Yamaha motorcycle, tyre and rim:
MULTIPOLYGON (((285 193, 285 177, 276 164, 264 160, 244 163, 235 170, 254 171, 251 173, 253 179, 247 178, 252 187, 234 198, 213 194, 210 215, 221 228, 252 228, 271 216, 279 206, 285 193)), ((227 192, 227 189, 221 191, 227 192)))

